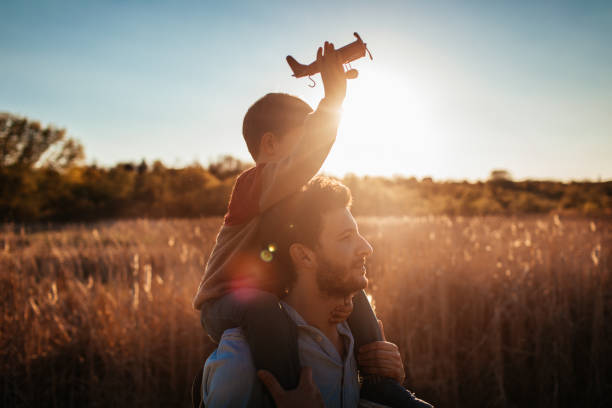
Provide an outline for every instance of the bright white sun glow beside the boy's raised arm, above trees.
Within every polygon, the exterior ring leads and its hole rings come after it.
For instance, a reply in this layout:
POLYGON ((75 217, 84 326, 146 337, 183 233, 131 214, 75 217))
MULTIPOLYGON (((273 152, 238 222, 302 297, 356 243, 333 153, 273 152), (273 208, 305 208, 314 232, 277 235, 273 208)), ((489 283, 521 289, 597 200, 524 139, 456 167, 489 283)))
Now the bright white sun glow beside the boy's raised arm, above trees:
POLYGON ((359 77, 348 82, 336 146, 324 171, 420 174, 435 155, 428 137, 430 100, 398 73, 372 66, 359 68, 359 77))

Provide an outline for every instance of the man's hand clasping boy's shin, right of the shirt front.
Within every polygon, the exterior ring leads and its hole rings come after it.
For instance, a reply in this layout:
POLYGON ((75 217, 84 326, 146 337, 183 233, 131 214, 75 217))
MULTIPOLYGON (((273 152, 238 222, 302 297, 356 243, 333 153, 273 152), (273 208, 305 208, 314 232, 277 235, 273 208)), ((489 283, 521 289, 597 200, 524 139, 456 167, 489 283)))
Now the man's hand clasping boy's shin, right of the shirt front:
POLYGON ((393 378, 400 384, 406 379, 399 348, 387 341, 382 322, 379 320, 383 341, 366 344, 359 349, 357 362, 364 374, 393 378))

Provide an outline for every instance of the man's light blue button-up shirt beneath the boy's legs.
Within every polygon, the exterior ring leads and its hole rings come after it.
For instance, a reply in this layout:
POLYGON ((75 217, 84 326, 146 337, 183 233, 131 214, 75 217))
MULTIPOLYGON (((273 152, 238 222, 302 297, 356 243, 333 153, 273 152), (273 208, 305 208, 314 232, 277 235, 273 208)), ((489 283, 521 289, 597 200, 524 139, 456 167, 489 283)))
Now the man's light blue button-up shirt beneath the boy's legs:
MULTIPOLYGON (((302 366, 312 367, 312 378, 321 391, 326 408, 357 407, 359 382, 354 341, 346 322, 338 324, 346 356, 342 358, 331 341, 291 306, 281 302, 298 327, 302 366)), ((204 365, 202 395, 208 408, 247 407, 261 401, 263 385, 257 378, 249 345, 240 328, 226 330, 219 346, 204 365)))

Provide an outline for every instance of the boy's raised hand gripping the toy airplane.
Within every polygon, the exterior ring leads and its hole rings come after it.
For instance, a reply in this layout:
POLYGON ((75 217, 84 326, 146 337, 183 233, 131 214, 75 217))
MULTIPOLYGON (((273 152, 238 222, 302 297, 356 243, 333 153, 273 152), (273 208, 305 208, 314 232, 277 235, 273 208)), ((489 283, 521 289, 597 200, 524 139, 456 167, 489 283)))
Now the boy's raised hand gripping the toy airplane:
POLYGON ((334 44, 325 41, 317 50, 317 64, 323 79, 325 99, 340 107, 346 96, 346 73, 334 44))

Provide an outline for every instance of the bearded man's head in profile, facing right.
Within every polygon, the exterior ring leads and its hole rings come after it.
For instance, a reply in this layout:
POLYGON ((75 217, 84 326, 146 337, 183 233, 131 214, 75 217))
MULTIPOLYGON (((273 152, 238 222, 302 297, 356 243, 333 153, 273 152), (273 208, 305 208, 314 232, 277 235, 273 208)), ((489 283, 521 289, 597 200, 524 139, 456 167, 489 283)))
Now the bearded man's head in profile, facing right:
POLYGON ((350 206, 348 187, 315 177, 262 222, 270 228, 266 235, 276 245, 288 286, 312 279, 321 294, 332 297, 367 286, 365 262, 372 247, 359 234, 350 206))

